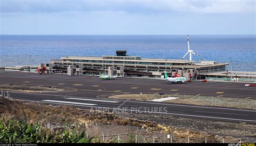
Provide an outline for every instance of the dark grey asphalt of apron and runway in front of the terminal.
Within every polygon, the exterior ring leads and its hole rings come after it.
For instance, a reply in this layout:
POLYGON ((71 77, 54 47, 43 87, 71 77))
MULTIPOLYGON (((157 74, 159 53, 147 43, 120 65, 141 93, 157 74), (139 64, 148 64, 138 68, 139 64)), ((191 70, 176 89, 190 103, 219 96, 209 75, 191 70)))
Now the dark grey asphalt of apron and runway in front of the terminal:
POLYGON ((50 86, 65 89, 63 92, 48 93, 9 92, 10 97, 24 101, 104 109, 110 112, 117 110, 256 123, 255 110, 107 99, 108 96, 114 94, 131 93, 200 94, 203 96, 256 99, 256 87, 245 87, 245 83, 194 81, 185 84, 171 84, 157 79, 126 77, 103 80, 95 76, 38 75, 27 72, 4 71, 0 72, 0 84, 50 86))

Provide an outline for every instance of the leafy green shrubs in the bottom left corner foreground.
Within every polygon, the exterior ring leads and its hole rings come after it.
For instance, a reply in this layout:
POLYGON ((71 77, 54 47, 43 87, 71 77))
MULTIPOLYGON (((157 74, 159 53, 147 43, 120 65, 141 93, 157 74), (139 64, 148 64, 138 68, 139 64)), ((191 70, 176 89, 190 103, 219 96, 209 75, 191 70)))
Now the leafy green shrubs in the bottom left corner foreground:
POLYGON ((50 129, 44 128, 36 123, 26 121, 19 122, 12 119, 0 120, 0 143, 89 143, 91 139, 84 138, 85 130, 73 132, 64 129, 62 133, 56 135, 50 129))

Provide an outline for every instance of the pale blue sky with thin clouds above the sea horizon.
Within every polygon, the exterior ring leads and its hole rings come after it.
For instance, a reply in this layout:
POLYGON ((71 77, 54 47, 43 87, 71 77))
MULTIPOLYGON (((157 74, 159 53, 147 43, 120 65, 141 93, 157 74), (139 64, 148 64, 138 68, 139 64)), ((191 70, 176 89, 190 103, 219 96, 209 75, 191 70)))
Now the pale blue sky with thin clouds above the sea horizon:
POLYGON ((256 34, 254 0, 0 0, 0 34, 256 34))

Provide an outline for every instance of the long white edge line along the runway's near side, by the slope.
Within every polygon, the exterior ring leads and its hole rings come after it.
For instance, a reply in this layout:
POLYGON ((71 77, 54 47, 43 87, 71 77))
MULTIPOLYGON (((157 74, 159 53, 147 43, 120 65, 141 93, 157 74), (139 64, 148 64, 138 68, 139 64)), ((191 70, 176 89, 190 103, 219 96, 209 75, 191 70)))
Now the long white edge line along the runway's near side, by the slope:
MULTIPOLYGON (((62 103, 51 103, 47 101, 33 101, 33 100, 22 100, 22 101, 30 101, 30 102, 36 102, 36 103, 50 103, 50 104, 62 104, 62 103)), ((50 100, 51 101, 51 100, 50 100)), ((129 101, 130 102, 130 101, 129 101)), ((79 103, 80 104, 80 103, 79 103)), ((62 105, 74 105, 74 106, 83 106, 83 107, 95 107, 95 108, 106 108, 106 107, 99 107, 99 106, 86 106, 86 105, 75 105, 75 104, 62 104, 62 105)), ((116 109, 116 108, 110 108, 109 109, 116 109)), ((134 112, 144 112, 144 113, 157 113, 157 114, 169 114, 169 115, 181 115, 181 116, 191 116, 191 117, 199 117, 199 118, 210 118, 210 119, 223 119, 223 120, 235 120, 235 121, 250 121, 250 122, 256 122, 254 120, 244 120, 244 119, 232 119, 232 118, 221 118, 221 117, 215 117, 215 116, 202 116, 202 115, 188 115, 188 114, 175 114, 175 113, 163 113, 163 112, 151 112, 151 111, 139 111, 135 109, 120 109, 122 111, 134 111, 134 112)))

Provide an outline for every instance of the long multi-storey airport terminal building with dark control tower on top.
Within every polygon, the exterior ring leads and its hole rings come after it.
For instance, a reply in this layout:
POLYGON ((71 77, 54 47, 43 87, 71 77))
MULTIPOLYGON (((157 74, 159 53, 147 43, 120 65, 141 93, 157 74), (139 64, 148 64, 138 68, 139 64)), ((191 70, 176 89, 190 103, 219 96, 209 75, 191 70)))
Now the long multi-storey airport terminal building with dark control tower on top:
POLYGON ((164 71, 169 76, 177 72, 187 79, 204 78, 204 74, 223 72, 228 63, 215 61, 189 61, 170 59, 143 59, 140 56, 127 56, 119 50, 113 56, 67 56, 46 64, 48 74, 86 75, 99 74, 117 76, 161 77, 164 71))

